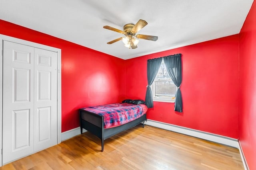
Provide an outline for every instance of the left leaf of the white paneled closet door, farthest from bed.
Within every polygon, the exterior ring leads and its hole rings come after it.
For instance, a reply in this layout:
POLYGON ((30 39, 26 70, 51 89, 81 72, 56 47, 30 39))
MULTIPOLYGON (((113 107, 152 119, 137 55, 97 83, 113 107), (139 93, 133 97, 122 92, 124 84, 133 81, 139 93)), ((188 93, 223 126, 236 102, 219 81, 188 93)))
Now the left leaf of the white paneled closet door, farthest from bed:
POLYGON ((3 164, 34 150, 34 48, 4 41, 3 164))

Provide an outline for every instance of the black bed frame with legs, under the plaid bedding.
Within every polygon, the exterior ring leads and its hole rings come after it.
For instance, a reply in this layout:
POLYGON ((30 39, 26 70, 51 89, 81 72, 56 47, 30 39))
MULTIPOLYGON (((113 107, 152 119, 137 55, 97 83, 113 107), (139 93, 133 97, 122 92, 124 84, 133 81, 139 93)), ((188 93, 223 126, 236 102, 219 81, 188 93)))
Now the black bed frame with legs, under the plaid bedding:
POLYGON ((83 109, 79 109, 79 117, 80 117, 80 129, 82 134, 82 129, 86 129, 90 133, 94 134, 96 137, 101 140, 101 151, 104 150, 104 140, 112 137, 122 131, 130 129, 140 123, 142 123, 142 127, 144 127, 144 122, 146 121, 146 113, 126 124, 104 129, 104 118, 101 115, 97 115, 95 113, 85 111, 83 109))

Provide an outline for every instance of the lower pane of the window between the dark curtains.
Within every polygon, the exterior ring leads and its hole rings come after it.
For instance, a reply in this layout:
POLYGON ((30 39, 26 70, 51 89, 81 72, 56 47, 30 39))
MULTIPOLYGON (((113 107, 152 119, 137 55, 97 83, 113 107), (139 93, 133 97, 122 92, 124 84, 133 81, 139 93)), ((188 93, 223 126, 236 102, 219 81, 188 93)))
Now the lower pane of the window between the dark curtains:
POLYGON ((175 96, 176 86, 170 81, 155 82, 155 96, 169 97, 175 96))

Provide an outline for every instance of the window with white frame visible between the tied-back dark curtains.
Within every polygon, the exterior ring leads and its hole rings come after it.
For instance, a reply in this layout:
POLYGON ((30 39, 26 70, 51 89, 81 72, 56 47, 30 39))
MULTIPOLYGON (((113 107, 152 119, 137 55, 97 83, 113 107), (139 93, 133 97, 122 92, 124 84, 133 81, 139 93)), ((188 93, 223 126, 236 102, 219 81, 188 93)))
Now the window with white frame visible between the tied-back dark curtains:
POLYGON ((156 74, 156 78, 151 85, 153 101, 156 102, 174 102, 177 87, 167 73, 164 60, 156 74))

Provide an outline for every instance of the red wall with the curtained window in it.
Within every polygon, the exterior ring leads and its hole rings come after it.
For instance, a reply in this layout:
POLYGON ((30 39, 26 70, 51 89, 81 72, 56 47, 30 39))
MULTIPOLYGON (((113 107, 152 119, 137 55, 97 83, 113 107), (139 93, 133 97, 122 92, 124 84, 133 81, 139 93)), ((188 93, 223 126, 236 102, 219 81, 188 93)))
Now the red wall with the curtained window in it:
POLYGON ((182 54, 183 113, 174 103, 154 102, 147 118, 238 138, 239 35, 126 61, 126 98, 145 99, 147 60, 182 54))

